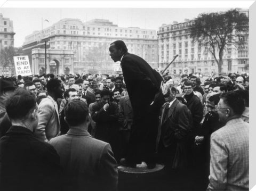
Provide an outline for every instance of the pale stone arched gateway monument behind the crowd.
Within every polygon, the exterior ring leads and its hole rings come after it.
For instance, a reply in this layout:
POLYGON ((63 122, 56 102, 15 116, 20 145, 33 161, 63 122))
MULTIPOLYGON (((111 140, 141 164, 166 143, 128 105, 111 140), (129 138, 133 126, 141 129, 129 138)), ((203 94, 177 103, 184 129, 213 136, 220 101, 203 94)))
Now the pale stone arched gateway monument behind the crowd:
POLYGON ((45 72, 45 49, 32 49, 32 73, 65 74, 74 71, 73 50, 46 49, 46 72, 45 72), (68 69, 68 71, 67 71, 68 69))

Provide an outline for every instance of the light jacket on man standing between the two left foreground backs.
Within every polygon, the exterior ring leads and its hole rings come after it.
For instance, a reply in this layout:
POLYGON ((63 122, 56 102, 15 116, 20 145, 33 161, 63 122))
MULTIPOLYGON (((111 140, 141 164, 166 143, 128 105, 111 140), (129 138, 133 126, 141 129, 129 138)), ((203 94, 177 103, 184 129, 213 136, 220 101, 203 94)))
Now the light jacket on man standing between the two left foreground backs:
POLYGON ((51 96, 44 98, 38 105, 38 126, 34 134, 45 142, 60 135, 58 105, 51 96))

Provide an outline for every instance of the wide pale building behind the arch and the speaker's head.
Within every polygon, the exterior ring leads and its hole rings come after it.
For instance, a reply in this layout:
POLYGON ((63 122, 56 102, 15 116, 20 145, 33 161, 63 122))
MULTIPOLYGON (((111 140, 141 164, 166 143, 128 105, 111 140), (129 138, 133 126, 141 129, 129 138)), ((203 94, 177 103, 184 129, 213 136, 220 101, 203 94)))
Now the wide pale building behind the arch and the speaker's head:
MULTIPOLYGON (((41 58, 34 63, 31 53, 34 48, 45 48, 46 41, 49 54, 55 50, 73 51, 74 73, 114 73, 121 70, 118 68, 119 64, 114 63, 109 56, 109 45, 115 40, 123 40, 130 53, 143 57, 151 67, 158 68, 158 40, 155 30, 122 28, 103 19, 87 22, 62 19, 48 28, 26 36, 22 48, 30 56, 30 63, 43 65, 45 60, 41 58)), ((46 72, 49 73, 50 68, 46 72)), ((39 70, 35 73, 39 73, 39 70)))

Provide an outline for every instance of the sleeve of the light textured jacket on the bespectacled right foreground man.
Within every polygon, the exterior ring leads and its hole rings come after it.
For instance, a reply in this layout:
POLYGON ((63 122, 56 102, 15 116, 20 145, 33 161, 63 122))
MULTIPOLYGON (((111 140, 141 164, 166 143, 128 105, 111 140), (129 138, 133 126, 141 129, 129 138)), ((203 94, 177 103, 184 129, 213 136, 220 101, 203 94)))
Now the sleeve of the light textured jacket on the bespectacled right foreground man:
POLYGON ((207 190, 225 190, 227 185, 228 150, 216 134, 211 136, 210 184, 207 190))

